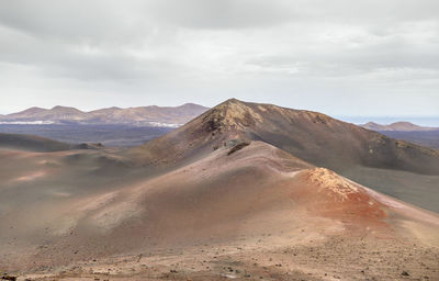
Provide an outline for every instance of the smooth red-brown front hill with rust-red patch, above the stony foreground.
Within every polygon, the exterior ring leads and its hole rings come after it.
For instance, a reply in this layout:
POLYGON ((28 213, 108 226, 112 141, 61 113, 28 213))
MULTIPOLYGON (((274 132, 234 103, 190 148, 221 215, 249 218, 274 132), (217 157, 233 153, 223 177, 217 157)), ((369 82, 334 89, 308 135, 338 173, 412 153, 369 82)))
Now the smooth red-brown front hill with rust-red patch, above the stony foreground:
MULTIPOLYGON (((32 218, 8 221, 13 222, 8 233, 27 227, 23 233, 36 245, 44 244, 29 251, 34 255, 27 259, 18 257, 20 266, 228 244, 243 236, 257 238, 268 229, 280 236, 305 228, 316 237, 356 231, 385 237, 408 233, 413 238, 408 229, 398 228, 403 221, 423 225, 435 235, 439 232, 436 215, 418 211, 428 222, 409 217, 397 211, 407 209, 405 204, 395 207, 390 199, 380 200, 357 183, 262 142, 228 153, 223 146, 175 171, 117 189, 71 194, 50 204, 40 199, 32 218), (48 213, 50 220, 38 221, 48 213)), ((21 212, 29 211, 23 206, 21 212)), ((5 257, 14 263, 11 256, 5 257)))

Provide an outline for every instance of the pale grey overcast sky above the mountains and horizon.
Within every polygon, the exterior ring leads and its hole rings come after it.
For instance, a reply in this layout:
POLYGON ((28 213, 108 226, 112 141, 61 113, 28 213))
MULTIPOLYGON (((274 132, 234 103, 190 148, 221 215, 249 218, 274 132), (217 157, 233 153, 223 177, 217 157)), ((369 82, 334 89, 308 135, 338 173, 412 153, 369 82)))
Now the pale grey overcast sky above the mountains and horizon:
POLYGON ((213 106, 439 116, 438 0, 0 1, 0 113, 213 106))

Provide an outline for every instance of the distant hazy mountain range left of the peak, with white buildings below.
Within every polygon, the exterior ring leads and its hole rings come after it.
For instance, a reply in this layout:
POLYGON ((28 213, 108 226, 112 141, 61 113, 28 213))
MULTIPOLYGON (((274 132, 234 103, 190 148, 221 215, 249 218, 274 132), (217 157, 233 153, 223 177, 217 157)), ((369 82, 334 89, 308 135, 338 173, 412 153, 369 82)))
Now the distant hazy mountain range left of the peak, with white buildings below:
POLYGON ((178 127, 209 108, 185 103, 180 106, 108 108, 83 112, 75 108, 53 109, 30 108, 27 110, 0 115, 0 124, 128 124, 178 127))

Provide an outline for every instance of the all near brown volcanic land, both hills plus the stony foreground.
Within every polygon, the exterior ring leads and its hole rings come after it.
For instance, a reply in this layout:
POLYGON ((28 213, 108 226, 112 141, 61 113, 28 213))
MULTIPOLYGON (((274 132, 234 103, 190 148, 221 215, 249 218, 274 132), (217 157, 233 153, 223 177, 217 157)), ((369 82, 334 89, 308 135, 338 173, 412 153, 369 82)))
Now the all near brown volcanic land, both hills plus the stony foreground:
POLYGON ((5 280, 439 280, 434 148, 235 99, 130 149, 0 140, 5 280))

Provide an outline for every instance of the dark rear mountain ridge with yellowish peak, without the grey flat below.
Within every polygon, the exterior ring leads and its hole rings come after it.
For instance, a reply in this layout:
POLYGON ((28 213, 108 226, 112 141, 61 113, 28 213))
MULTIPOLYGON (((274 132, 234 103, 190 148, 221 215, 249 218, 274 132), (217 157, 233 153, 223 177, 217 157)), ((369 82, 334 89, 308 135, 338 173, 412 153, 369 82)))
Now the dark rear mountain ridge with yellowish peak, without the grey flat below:
MULTIPOLYGON (((348 166, 361 164, 389 168, 392 165, 401 170, 415 169, 416 172, 439 173, 439 151, 436 149, 392 139, 323 113, 241 102, 236 99, 212 108, 184 126, 145 144, 144 147, 162 143, 168 146, 168 149, 164 150, 169 151, 170 147, 176 146, 181 150, 177 155, 188 155, 192 147, 217 146, 234 138, 263 140, 305 161, 335 170, 342 170, 336 162, 346 161, 348 166), (184 142, 180 139, 189 142, 189 145, 184 147, 184 142), (416 153, 413 154, 412 150, 416 153), (334 154, 338 157, 334 158, 334 154), (423 158, 417 160, 423 168, 410 164, 416 157, 423 158), (437 165, 430 165, 430 158, 437 165)), ((166 156, 160 158, 166 159, 166 156)))

